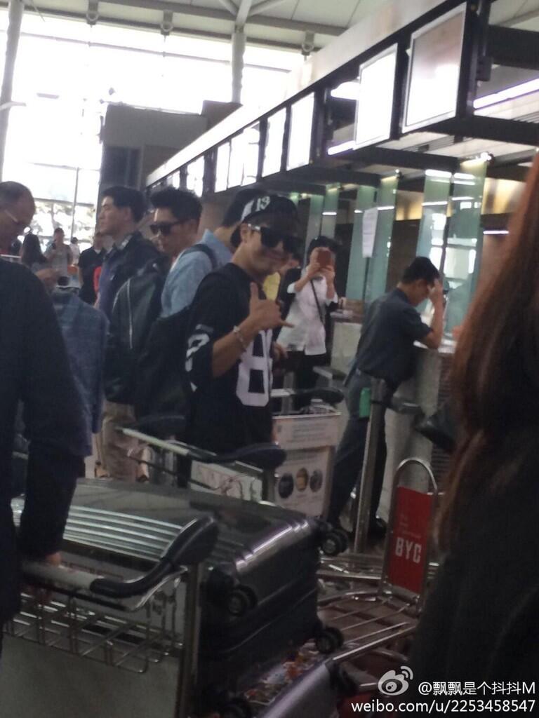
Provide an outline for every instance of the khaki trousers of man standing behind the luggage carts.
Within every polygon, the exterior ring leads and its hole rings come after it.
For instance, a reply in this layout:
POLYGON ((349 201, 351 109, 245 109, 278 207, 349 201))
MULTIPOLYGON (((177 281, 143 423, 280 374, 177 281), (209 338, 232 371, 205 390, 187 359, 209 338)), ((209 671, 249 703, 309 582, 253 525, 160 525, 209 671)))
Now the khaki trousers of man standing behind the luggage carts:
POLYGON ((139 474, 137 462, 129 458, 139 457, 144 446, 132 437, 116 431, 119 426, 132 424, 134 410, 129 404, 116 404, 105 401, 103 407, 103 426, 98 434, 98 454, 101 467, 107 476, 122 481, 136 481, 139 474), (128 455, 129 454, 129 455, 128 455))

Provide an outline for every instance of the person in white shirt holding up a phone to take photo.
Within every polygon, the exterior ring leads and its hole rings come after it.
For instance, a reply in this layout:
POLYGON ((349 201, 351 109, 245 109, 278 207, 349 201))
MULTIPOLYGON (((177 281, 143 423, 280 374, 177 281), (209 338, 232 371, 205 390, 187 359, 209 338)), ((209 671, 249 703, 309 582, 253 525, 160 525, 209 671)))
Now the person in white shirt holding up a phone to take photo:
MULTIPOLYGON (((308 248, 309 264, 303 271, 292 269, 282 282, 280 299, 284 318, 278 342, 287 350, 288 364, 295 370, 296 388, 316 384, 315 366, 326 363, 326 312, 338 302, 335 291, 335 241, 314 239, 308 248)), ((303 402, 295 402, 299 409, 303 402)))

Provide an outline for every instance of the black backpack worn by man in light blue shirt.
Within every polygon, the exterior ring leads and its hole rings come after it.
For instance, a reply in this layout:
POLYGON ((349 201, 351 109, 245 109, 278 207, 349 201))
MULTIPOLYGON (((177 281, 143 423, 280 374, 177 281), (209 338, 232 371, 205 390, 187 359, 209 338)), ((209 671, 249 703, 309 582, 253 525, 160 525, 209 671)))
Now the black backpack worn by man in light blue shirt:
MULTIPOLYGON (((213 251, 195 244, 186 252, 202 251, 217 268, 213 251)), ((189 386, 185 376, 185 347, 190 307, 155 320, 137 363, 134 411, 137 419, 158 414, 186 414, 189 386)))

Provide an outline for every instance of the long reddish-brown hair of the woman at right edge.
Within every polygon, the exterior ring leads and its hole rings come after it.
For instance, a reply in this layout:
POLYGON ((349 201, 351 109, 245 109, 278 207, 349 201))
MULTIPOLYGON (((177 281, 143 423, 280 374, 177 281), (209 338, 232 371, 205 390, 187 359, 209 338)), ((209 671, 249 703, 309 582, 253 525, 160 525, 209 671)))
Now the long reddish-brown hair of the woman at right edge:
POLYGON ((504 261, 479 292, 453 359, 461 438, 441 516, 443 549, 476 500, 517 481, 539 444, 539 157, 512 218, 504 261))

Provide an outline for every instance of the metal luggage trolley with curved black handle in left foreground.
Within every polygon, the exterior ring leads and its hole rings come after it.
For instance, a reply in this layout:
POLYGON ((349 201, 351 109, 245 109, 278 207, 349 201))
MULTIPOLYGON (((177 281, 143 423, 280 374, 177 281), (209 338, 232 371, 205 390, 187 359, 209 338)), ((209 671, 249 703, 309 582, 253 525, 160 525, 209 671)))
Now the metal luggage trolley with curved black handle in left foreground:
MULTIPOLYGON (((16 521, 22 508, 23 501, 14 500, 16 521)), ((188 718, 198 656, 201 562, 216 537, 211 517, 195 518, 178 531, 139 516, 74 507, 65 530, 65 563, 23 564, 25 580, 36 592, 22 595, 21 610, 6 633, 129 673, 146 673, 170 657, 176 688, 171 715, 188 718), (101 558, 82 566, 75 553, 81 543, 101 558)), ((51 656, 40 657, 55 663, 51 656)), ((40 707, 41 715, 45 711, 40 707)))

